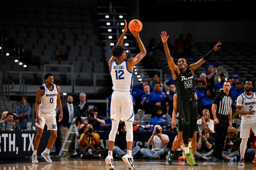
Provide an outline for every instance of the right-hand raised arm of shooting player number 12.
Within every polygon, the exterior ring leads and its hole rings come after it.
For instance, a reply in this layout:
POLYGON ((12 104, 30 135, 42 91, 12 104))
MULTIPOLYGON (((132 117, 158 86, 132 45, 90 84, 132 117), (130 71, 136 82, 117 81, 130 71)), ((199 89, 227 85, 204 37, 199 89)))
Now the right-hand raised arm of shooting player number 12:
POLYGON ((136 38, 136 40, 139 44, 139 47, 140 47, 140 53, 127 61, 127 67, 129 69, 129 71, 133 72, 133 66, 138 64, 140 62, 140 60, 142 60, 142 58, 145 57, 147 52, 146 52, 146 49, 145 49, 142 41, 140 40, 139 32, 133 30, 133 31, 131 31, 131 33, 136 38))

